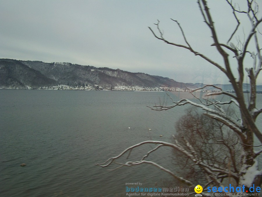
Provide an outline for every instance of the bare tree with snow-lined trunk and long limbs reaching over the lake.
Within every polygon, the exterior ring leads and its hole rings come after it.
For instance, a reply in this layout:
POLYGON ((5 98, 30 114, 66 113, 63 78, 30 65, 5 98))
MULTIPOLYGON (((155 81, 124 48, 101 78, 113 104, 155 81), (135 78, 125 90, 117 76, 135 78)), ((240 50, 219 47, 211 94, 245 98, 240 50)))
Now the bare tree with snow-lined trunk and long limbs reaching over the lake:
MULTIPOLYGON (((249 142, 251 142, 249 140, 249 137, 253 135, 253 133, 258 137, 258 139, 260 140, 260 142, 262 142, 262 136, 260 131, 256 128, 255 125, 255 118, 258 114, 260 114, 262 112, 262 108, 260 110, 255 108, 255 102, 256 102, 256 97, 255 97, 255 87, 256 87, 256 78, 259 74, 259 72, 261 71, 261 67, 262 67, 262 57, 261 57, 261 48, 259 46, 259 39, 257 38, 257 31, 258 30, 258 26, 259 24, 262 22, 262 18, 259 19, 257 16, 257 13, 259 13, 258 11, 258 4, 254 1, 254 0, 247 0, 247 4, 248 4, 248 9, 247 11, 241 11, 240 9, 236 9, 235 6, 233 6, 232 1, 230 0, 226 0, 227 3, 229 4, 229 6, 231 7, 232 11, 233 11, 233 16, 236 19, 236 27, 233 29, 233 32, 230 35, 229 40, 227 41, 226 44, 220 43, 218 40, 218 36, 217 36, 217 32, 215 30, 215 26, 214 26, 214 22, 213 19, 211 17, 211 13, 210 13, 210 8, 207 5, 207 1, 206 0, 198 0, 197 3, 199 4, 199 8, 201 11, 201 14, 203 16, 204 22, 207 24, 208 28, 211 30, 211 37, 213 39, 213 43, 211 46, 215 46, 216 49, 218 50, 219 55, 221 55, 223 57, 224 63, 223 64, 219 64, 213 60, 211 60, 210 58, 208 58, 207 56, 203 55, 202 53, 199 53, 197 51, 195 51, 191 46, 190 43, 187 41, 187 38, 185 36, 185 33, 180 25, 180 23, 176 20, 171 19, 172 21, 176 22, 176 24, 178 25, 180 32, 182 33, 183 39, 184 39, 184 44, 178 44, 176 42, 169 42, 166 39, 164 39, 163 36, 163 31, 160 29, 160 21, 157 20, 157 24, 155 24, 157 27, 158 33, 155 34, 155 32, 150 28, 150 31, 152 32, 152 34, 155 36, 155 38, 164 41, 167 44, 176 46, 176 47, 180 47, 180 48, 185 48, 187 50, 189 50, 191 53, 193 53, 194 55, 198 55, 200 57, 202 57, 204 60, 206 60, 207 62, 213 64, 215 67, 217 67, 218 69, 220 69, 229 79, 230 83, 233 86, 233 89, 236 92, 236 95, 233 95, 231 93, 225 92, 222 90, 222 88, 219 88, 217 86, 214 85, 205 85, 204 87, 201 88, 197 88, 195 90, 192 90, 190 93, 192 94, 193 92, 206 88, 208 86, 212 86, 216 89, 218 89, 218 92, 215 93, 207 93, 206 95, 204 95, 205 97, 208 96, 213 96, 213 95, 227 95, 231 97, 230 101, 227 102, 221 102, 221 101, 215 101, 215 102, 211 102, 208 99, 204 99, 207 102, 202 102, 199 98, 197 98, 200 101, 199 103, 196 102, 192 102, 188 99, 181 99, 178 102, 173 101, 172 105, 169 106, 164 106, 163 105, 156 105, 153 108, 150 107, 152 110, 155 111, 162 111, 162 110, 168 110, 171 109, 173 107, 176 106, 183 106, 185 104, 190 104, 192 106, 198 107, 200 109, 204 110, 204 115, 215 119, 217 121, 219 121, 222 124, 222 126, 226 126, 227 128, 230 128, 233 132, 235 132, 234 134, 238 135, 238 137, 240 138, 240 140, 242 140, 243 143, 241 143, 242 145, 246 145, 249 142), (236 35, 236 32, 238 31, 238 28, 240 26, 240 20, 238 19, 238 15, 239 13, 247 15, 247 17, 249 18, 250 22, 251 22, 251 29, 249 34, 247 35, 247 38, 241 42, 240 39, 237 39, 238 44, 240 44, 240 47, 237 45, 235 46, 233 43, 229 43, 229 41, 233 38, 233 36, 236 35), (254 38, 255 41, 255 46, 256 46, 256 53, 254 52, 249 52, 247 51, 247 47, 249 45, 250 40, 252 40, 252 37, 254 38), (229 45, 228 45, 229 43, 229 45), (234 76, 233 72, 231 71, 231 69, 233 69, 232 65, 230 64, 229 61, 229 54, 227 52, 229 52, 228 50, 230 50, 231 52, 233 52, 236 55, 236 60, 238 62, 238 81, 236 81, 236 77, 234 76), (244 96, 243 96, 243 92, 242 92, 242 84, 243 84, 243 77, 244 77, 244 73, 243 73, 243 61, 245 58, 246 54, 250 54, 252 55, 252 58, 254 59, 254 64, 253 64, 253 68, 251 69, 247 69, 248 74, 249 74, 249 78, 250 78, 250 84, 251 87, 254 86, 254 88, 252 89, 252 93, 254 93, 254 96, 251 97, 250 99, 250 105, 249 105, 249 109, 246 108, 245 105, 245 100, 244 100, 244 96), (257 59, 258 60, 257 60, 257 59), (254 90, 254 91, 253 91, 254 90), (233 117, 229 116, 228 114, 226 114, 226 112, 222 109, 222 107, 220 105, 224 105, 224 104, 231 104, 234 103, 236 104, 240 109, 240 113, 241 113, 241 122, 239 123, 238 121, 234 120, 233 117), (210 106, 210 107, 209 107, 210 106), (211 109, 211 106, 212 109, 211 109), (214 108, 214 109, 213 109, 214 108), (244 125, 242 125, 244 124, 244 125), (252 135, 251 135, 252 134, 252 135), (245 144, 244 144, 245 143, 245 144)), ((260 32, 259 32, 260 33, 260 32)), ((245 37, 245 34, 244 34, 245 37)), ((252 95, 252 94, 251 94, 252 95)), ((222 128, 221 126, 221 128, 222 128)), ((217 132, 216 130, 214 132, 217 132)), ((231 131, 230 131, 231 132, 231 131)), ((253 138, 250 138, 253 139, 253 138)), ((172 143, 168 143, 168 142, 163 142, 163 141, 144 141, 144 142, 140 142, 138 144, 135 144, 133 146, 128 147, 127 149, 125 149, 124 151, 122 151, 120 154, 118 154, 115 157, 111 157, 109 159, 107 159, 104 163, 98 163, 96 165, 99 165, 101 167, 107 167, 109 165, 111 165, 112 163, 115 163, 117 165, 119 165, 117 168, 112 169, 112 170, 116 170, 118 168, 122 168, 123 166, 133 166, 133 165, 141 165, 141 164, 151 164, 153 166, 156 166, 157 168, 164 170, 165 172, 169 173, 170 175, 172 175, 173 177, 177 178, 178 180, 185 182, 191 186, 193 186, 192 182, 190 182, 189 180, 186 180, 182 177, 177 176, 174 172, 168 170, 167 168, 164 168, 163 166, 153 162, 153 161, 146 161, 145 159, 154 151, 158 150, 160 147, 171 147, 173 149, 175 149, 176 151, 178 151, 179 153, 181 153, 183 155, 183 157, 187 158, 187 160, 190 160, 190 164, 189 166, 197 166, 198 168, 200 168, 202 171, 204 171, 208 182, 216 185, 216 186, 221 186, 224 188, 224 186, 222 185, 223 179, 227 178, 227 177, 233 177, 238 184, 241 183, 243 181, 246 181, 247 185, 250 185, 255 179, 252 178, 252 180, 249 177, 257 177, 257 175, 261 175, 258 174, 258 168, 256 165, 256 161, 255 161, 255 157, 258 156, 259 154, 262 153, 262 150, 253 151, 253 145, 246 145, 244 147, 244 152, 243 154, 240 153, 240 156, 244 156, 242 158, 242 168, 241 168, 241 173, 238 173, 238 169, 236 168, 236 163, 235 160, 233 158, 234 156, 234 148, 231 149, 231 147, 229 146, 229 144, 225 144, 226 142, 221 141, 224 143, 224 145, 227 147, 227 149, 230 151, 230 155, 231 155, 231 160, 233 161, 233 167, 234 167, 234 172, 231 170, 230 168, 224 168, 224 166, 220 166, 220 163, 214 163, 212 160, 211 162, 208 161, 207 159, 205 159, 205 157, 201 156, 201 154, 198 154, 198 150, 196 147, 193 146, 193 143, 190 144, 190 140, 185 140, 185 144, 184 141, 182 142, 183 145, 178 143, 178 140, 175 139, 174 144, 172 143), (123 162, 123 163, 119 163, 117 162, 117 159, 119 159, 120 157, 122 157, 124 154, 131 154, 132 150, 140 147, 144 144, 156 144, 156 147, 151 149, 150 151, 148 151, 142 158, 140 161, 128 161, 128 162, 123 162), (184 147, 183 147, 184 146, 184 147), (251 154, 249 154, 251 153, 251 154), (252 158, 248 158, 248 157, 252 157, 252 158), (253 163, 253 164, 252 164, 253 163), (192 165, 191 165, 192 164, 192 165), (254 173, 255 172, 255 173, 254 173), (240 180, 240 182, 239 182, 240 180)), ((217 142, 210 142, 210 144, 216 144, 217 142)), ((242 146, 243 148, 243 146, 242 146)), ((128 159, 128 158, 127 158, 128 159)), ((226 161, 226 158, 224 159, 226 161)), ((194 168, 194 167, 192 167, 194 168)), ((262 173, 262 171, 260 172, 262 173)), ((240 185, 241 185, 240 184, 240 185)), ((253 184, 253 183, 252 183, 253 184)), ((205 186, 204 186, 205 187, 205 186)), ((204 189, 204 188, 203 188, 204 189)), ((205 194, 203 194, 205 196, 205 194)))

